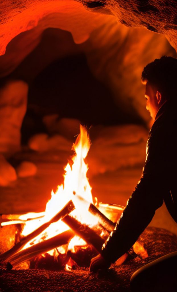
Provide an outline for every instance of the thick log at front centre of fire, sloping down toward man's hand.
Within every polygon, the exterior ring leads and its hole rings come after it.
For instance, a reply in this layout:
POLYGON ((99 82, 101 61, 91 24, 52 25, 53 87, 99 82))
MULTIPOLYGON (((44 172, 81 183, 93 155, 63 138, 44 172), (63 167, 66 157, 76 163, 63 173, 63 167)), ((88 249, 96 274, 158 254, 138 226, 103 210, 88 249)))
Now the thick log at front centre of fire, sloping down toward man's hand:
POLYGON ((80 223, 77 219, 66 215, 62 221, 66 223, 78 236, 84 239, 88 244, 91 244, 98 253, 101 253, 104 239, 101 238, 93 229, 86 224, 80 223))

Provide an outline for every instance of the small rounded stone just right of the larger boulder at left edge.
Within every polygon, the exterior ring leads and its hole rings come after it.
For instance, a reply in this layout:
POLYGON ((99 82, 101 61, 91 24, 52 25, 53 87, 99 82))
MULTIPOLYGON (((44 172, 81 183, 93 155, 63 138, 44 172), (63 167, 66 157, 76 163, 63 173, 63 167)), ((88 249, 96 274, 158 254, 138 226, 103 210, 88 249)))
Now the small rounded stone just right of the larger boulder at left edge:
POLYGON ((37 172, 37 167, 33 162, 23 161, 16 168, 16 172, 19 178, 25 178, 27 176, 33 176, 37 172))

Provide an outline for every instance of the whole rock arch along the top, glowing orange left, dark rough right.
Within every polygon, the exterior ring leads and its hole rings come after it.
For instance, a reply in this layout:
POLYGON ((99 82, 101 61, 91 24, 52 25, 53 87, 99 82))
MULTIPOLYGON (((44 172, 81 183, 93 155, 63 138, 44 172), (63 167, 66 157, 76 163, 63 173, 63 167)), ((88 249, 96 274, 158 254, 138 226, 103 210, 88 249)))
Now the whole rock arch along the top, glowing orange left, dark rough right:
MULTIPOLYGON (((142 26, 164 34, 177 48, 176 0, 78 0, 78 2, 91 11, 113 14, 126 26, 142 26)), ((77 43, 83 42, 93 28, 110 17, 99 13, 93 14, 85 8, 72 0, 1 1, 0 10, 3 13, 0 19, 0 54, 5 52, 9 41, 21 32, 39 25, 39 37, 40 27, 42 30, 46 25, 56 27, 56 22, 60 22, 61 29, 71 31, 77 43), (52 20, 51 17, 48 19, 48 15, 52 16, 52 20)))

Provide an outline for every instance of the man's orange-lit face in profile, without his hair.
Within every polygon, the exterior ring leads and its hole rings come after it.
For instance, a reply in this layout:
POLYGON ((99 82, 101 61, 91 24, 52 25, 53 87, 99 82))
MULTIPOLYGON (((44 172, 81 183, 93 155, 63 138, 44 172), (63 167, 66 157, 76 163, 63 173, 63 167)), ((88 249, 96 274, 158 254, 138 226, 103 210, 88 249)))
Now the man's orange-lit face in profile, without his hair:
POLYGON ((155 116, 160 108, 158 101, 157 101, 157 90, 150 85, 149 82, 146 83, 146 91, 145 91, 145 98, 146 98, 146 109, 150 112, 151 117, 155 120, 155 116))

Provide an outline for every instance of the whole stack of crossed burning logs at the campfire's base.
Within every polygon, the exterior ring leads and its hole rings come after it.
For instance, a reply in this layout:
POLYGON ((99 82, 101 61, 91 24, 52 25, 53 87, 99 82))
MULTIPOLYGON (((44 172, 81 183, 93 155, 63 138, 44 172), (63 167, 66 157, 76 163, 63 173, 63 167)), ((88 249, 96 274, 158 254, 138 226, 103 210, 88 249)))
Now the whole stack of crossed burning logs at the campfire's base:
MULTIPOLYGON (((85 249, 85 253, 89 254, 89 260, 91 260, 91 258, 93 256, 96 256, 98 253, 101 253, 102 245, 104 244, 105 240, 108 238, 110 232, 114 229, 115 223, 113 223, 110 219, 108 219, 104 214, 102 214, 98 210, 96 206, 94 206, 91 203, 88 211, 97 218, 98 224, 95 225, 93 228, 90 228, 88 225, 79 222, 72 215, 69 215, 74 209, 75 209, 75 206, 73 204, 73 201, 70 200, 64 206, 64 208, 60 210, 52 219, 42 224, 40 227, 38 227, 36 230, 28 234, 26 237, 23 237, 22 239, 20 239, 20 241, 16 243, 12 248, 10 248, 5 253, 1 254, 0 256, 1 265, 6 265, 8 269, 12 269, 13 267, 20 265, 21 263, 31 261, 31 260, 34 261, 36 257, 44 255, 48 251, 51 251, 52 249, 56 248, 57 250, 59 246, 64 246, 64 245, 69 244, 69 241, 75 235, 79 236, 87 243, 87 246, 85 246, 84 249, 85 249), (62 220, 66 225, 68 225, 69 229, 55 235, 54 237, 50 239, 44 239, 42 242, 33 244, 30 247, 23 249, 23 247, 29 241, 34 240, 35 237, 41 234, 42 232, 44 232, 44 230, 47 227, 49 227, 50 224, 57 222, 58 220, 62 220)), ((8 217, 6 215, 6 218, 15 218, 14 216, 8 217)), ((5 215, 3 217, 5 217, 5 215)), ((24 222, 22 221, 22 223, 24 222)), ((77 254, 79 254, 80 246, 77 246, 76 249, 77 249, 77 254)), ((82 255, 83 255, 83 252, 82 252, 82 255)), ((68 253, 66 254, 64 262, 66 263, 67 260, 69 260, 69 258, 72 258, 74 262, 75 260, 77 262, 80 262, 79 257, 77 259, 77 255, 76 254, 74 255, 71 251, 68 251, 68 253)), ((84 254, 84 258, 85 258, 85 254, 84 254)), ((82 263, 80 263, 80 265, 82 265, 82 263)), ((87 265, 89 265, 88 255, 87 255, 87 265)))

